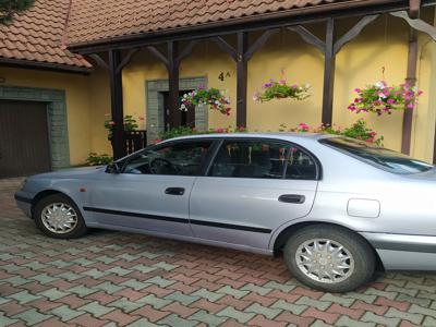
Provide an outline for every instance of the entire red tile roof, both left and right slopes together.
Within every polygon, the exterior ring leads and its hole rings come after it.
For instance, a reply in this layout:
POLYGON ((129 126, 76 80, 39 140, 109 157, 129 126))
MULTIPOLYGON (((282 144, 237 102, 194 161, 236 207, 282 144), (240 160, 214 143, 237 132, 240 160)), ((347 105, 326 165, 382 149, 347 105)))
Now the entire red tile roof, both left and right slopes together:
POLYGON ((400 0, 36 0, 35 5, 11 25, 0 26, 0 62, 17 59, 90 68, 64 44, 93 44, 301 9, 328 11, 337 5, 364 7, 397 1, 400 0))

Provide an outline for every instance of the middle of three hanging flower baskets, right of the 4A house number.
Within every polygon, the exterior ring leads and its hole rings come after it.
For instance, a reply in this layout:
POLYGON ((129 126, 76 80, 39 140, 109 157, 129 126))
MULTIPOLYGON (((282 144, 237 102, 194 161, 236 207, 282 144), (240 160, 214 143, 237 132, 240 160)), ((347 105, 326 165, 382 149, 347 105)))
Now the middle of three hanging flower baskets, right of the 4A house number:
POLYGON ((268 83, 263 85, 263 92, 256 92, 253 96, 253 100, 264 102, 272 99, 295 99, 304 100, 311 96, 308 89, 310 84, 305 85, 288 85, 286 80, 274 81, 270 80, 268 83))

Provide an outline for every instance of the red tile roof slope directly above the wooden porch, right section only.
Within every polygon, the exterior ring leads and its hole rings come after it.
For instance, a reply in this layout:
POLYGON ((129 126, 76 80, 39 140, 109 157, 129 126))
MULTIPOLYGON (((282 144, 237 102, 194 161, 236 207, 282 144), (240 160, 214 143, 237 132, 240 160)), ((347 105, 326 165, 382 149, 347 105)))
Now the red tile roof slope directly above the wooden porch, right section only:
POLYGON ((368 0, 73 0, 69 44, 368 0))

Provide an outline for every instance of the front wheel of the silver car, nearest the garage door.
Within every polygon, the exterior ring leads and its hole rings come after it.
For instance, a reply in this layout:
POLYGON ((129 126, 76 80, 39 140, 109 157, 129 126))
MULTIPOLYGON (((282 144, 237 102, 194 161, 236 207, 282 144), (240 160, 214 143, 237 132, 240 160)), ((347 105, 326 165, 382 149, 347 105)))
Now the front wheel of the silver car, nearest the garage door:
POLYGON ((33 217, 43 233, 55 239, 75 239, 88 232, 80 209, 63 194, 52 194, 40 199, 33 217))

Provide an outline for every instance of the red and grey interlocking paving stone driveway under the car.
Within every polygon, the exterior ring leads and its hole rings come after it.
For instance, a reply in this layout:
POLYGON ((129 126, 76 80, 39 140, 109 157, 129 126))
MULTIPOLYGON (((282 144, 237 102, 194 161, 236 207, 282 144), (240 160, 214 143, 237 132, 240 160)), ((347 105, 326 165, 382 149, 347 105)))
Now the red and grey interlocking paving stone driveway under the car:
POLYGON ((95 231, 59 241, 0 181, 0 326, 436 326, 436 275, 348 294, 302 287, 281 258, 95 231))

